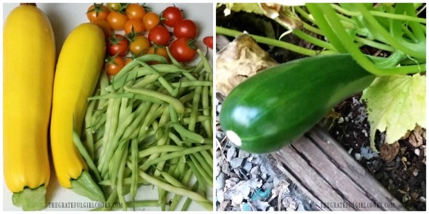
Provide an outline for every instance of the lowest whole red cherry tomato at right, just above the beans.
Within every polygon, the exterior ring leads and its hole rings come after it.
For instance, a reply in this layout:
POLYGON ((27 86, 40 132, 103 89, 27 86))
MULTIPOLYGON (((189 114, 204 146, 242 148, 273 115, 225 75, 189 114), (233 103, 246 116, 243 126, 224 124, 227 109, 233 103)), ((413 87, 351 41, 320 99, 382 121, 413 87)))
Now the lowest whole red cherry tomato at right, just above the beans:
POLYGON ((197 55, 197 47, 193 39, 180 38, 170 44, 170 52, 177 61, 188 62, 197 55))

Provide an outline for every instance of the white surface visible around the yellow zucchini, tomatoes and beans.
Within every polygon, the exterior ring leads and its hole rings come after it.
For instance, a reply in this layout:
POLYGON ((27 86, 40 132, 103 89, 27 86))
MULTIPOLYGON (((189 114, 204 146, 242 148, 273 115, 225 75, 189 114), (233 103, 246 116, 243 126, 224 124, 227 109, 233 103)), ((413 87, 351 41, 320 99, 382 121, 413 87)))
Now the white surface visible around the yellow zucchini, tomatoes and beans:
MULTIPOLYGON (((19 3, 3 3, 3 23, 6 20, 9 12, 18 6, 19 3)), ((161 12, 163 8, 172 6, 172 3, 146 3, 146 5, 154 12, 161 12)), ((212 3, 174 3, 175 6, 183 10, 183 17, 192 19, 199 26, 199 36, 197 37, 197 46, 205 52, 206 46, 203 45, 202 39, 206 36, 212 36, 213 33, 213 4, 212 3)), ((71 30, 80 23, 88 22, 86 19, 86 9, 91 6, 91 3, 37 3, 37 6, 42 9, 51 21, 55 34, 55 43, 57 47, 57 55, 61 50, 62 43, 71 30)), ((29 20, 30 21, 30 20, 29 20)), ((1 27, 3 28, 3 26, 1 27)), ((212 50, 209 50, 210 61, 212 62, 212 50)), ((2 164, 3 165, 3 164, 2 164)), ((2 168, 2 167, 1 167, 2 168)), ((2 171, 3 173, 3 171, 2 171)), ((6 187, 6 183, 1 176, 3 183, 3 211, 21 211, 12 205, 12 193, 6 187)), ((98 206, 97 202, 91 202, 73 191, 62 188, 55 179, 53 166, 51 166, 51 181, 48 185, 47 200, 50 203, 46 211, 88 211, 91 208, 87 206, 98 206), (62 207, 53 207, 62 206, 62 207), (68 206, 64 208, 64 206, 68 206)), ((212 189, 209 193, 210 199, 213 198, 212 189)), ((140 189, 138 192, 140 199, 156 199, 156 189, 152 186, 140 189)), ((178 206, 180 207, 180 206, 178 206)), ((92 207, 93 208, 93 207, 92 207)), ((145 211, 159 211, 159 208, 144 208, 145 211)), ((192 202, 192 211, 206 211, 198 204, 192 202)))

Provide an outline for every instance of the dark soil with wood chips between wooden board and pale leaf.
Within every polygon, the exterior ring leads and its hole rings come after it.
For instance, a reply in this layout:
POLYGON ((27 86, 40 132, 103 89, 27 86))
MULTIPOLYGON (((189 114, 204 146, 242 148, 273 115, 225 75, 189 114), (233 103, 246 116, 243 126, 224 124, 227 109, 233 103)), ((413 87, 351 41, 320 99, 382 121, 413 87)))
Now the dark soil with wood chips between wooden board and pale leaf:
POLYGON ((414 144, 412 137, 401 139, 394 146, 381 145, 383 134, 378 133, 376 148, 387 148, 383 150, 387 153, 381 151, 380 156, 369 159, 362 157, 361 148, 370 148, 369 123, 362 117, 365 104, 357 102, 359 98, 355 95, 336 107, 340 115, 329 133, 408 210, 426 211, 426 130, 418 134, 421 145, 414 144))

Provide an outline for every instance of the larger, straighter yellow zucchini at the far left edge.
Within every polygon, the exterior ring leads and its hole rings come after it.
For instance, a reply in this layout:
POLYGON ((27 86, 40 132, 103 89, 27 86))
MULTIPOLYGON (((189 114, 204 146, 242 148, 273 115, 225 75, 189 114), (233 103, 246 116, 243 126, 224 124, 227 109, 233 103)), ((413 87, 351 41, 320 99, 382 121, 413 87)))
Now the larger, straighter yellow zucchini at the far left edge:
POLYGON ((17 6, 3 27, 3 171, 13 204, 24 211, 46 207, 54 70, 48 17, 35 5, 17 6))

